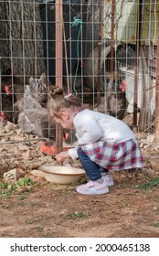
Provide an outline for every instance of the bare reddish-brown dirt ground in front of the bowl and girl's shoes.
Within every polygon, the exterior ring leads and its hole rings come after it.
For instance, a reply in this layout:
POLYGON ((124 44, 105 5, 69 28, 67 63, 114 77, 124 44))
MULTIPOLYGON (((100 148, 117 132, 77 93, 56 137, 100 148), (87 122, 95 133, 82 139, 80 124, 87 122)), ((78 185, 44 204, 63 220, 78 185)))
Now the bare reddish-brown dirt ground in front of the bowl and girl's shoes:
POLYGON ((27 178, 30 185, 8 195, 1 188, 1 238, 159 237, 159 188, 142 189, 143 172, 115 173, 110 193, 98 196, 78 194, 79 184, 27 178))

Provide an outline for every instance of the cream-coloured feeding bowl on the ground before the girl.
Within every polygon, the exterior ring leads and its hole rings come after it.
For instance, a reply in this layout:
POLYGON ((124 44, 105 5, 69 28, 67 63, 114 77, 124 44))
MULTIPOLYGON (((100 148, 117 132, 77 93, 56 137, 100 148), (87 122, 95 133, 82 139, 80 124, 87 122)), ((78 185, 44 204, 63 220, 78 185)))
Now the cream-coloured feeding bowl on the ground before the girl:
POLYGON ((85 171, 80 168, 69 166, 49 166, 42 165, 40 170, 43 171, 45 178, 55 184, 67 185, 72 182, 77 182, 80 176, 85 174, 85 171))

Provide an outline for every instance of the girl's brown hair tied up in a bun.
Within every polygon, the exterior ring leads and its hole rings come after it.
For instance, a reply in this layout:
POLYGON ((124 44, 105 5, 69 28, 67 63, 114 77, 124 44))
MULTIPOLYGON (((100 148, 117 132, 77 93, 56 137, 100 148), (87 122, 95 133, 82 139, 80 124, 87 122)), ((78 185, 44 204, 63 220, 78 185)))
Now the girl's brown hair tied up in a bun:
POLYGON ((65 94, 62 88, 50 86, 48 96, 48 111, 58 116, 59 111, 70 108, 81 108, 80 101, 72 94, 65 94))

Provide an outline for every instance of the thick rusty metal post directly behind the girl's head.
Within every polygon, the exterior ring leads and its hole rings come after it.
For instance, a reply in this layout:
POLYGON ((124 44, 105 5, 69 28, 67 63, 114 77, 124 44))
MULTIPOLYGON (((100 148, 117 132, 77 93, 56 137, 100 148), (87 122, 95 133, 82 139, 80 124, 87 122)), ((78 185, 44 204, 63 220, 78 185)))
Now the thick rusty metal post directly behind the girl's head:
MULTIPOLYGON (((62 88, 63 80, 63 1, 55 3, 55 29, 56 29, 56 86, 62 88)), ((57 154, 63 149, 63 133, 59 124, 56 124, 57 154)))

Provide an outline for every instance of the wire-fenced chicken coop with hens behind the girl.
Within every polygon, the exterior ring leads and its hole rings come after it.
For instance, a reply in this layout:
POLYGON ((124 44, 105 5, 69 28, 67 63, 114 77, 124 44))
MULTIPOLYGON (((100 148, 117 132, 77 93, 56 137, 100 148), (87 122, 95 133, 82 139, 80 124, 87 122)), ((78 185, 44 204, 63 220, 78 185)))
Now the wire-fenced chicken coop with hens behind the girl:
POLYGON ((40 152, 51 158, 54 147, 76 144, 49 119, 51 85, 127 123, 143 152, 158 152, 157 0, 4 0, 0 14, 1 170, 34 168, 40 152))

